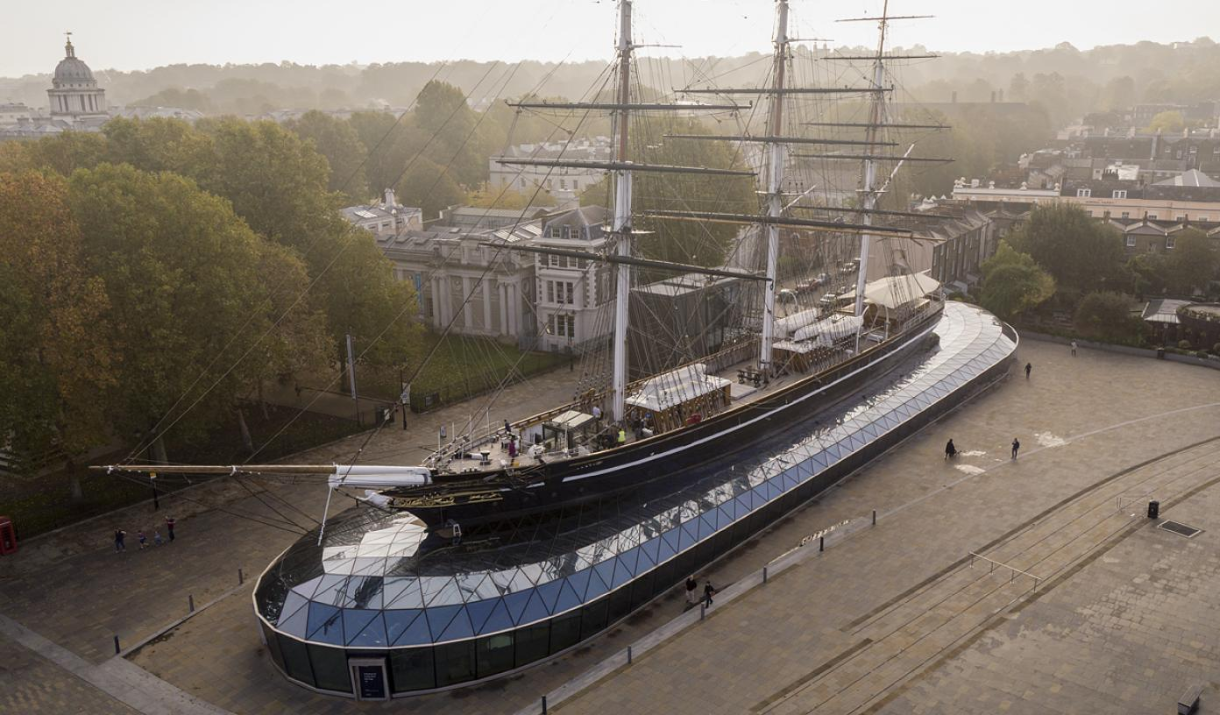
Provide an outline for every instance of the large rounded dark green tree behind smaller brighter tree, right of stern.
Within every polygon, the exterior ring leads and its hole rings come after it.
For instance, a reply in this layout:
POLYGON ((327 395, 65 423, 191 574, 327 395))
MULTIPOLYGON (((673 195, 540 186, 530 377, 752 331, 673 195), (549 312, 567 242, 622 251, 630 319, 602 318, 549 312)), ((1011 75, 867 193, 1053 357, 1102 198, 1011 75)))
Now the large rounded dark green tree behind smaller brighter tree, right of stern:
POLYGON ((1030 254, 1061 289, 1080 293, 1115 286, 1124 264, 1118 232, 1094 221, 1080 206, 1036 206, 1011 234, 1013 248, 1030 254))

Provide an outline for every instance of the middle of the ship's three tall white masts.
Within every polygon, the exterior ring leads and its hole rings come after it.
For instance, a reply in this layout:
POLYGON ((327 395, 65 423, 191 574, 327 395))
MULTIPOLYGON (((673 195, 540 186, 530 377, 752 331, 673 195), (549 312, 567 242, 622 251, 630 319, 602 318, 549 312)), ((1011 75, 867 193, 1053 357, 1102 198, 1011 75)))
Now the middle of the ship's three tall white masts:
MULTIPOLYGON (((770 138, 778 139, 783 135, 783 81, 787 70, 788 55, 788 0, 776 1, 776 29, 775 29, 775 66, 772 67, 772 85, 769 96, 767 124, 770 138)), ((783 214, 783 162, 784 144, 778 140, 766 143, 767 146, 767 217, 780 218, 783 214)), ((775 342, 775 293, 776 293, 776 266, 780 256, 780 226, 767 223, 766 231, 766 277, 762 293, 762 339, 759 351, 759 371, 766 376, 771 375, 771 353, 775 342)))

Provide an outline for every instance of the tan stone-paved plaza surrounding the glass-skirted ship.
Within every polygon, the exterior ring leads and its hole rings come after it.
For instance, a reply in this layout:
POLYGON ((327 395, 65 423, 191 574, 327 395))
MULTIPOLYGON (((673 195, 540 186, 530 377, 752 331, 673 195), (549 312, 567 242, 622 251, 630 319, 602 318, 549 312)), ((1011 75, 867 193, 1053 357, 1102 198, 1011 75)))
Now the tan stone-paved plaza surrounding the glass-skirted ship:
MULTIPOLYGON (((717 604, 551 711, 1171 713, 1196 682, 1208 686, 1200 711, 1220 711, 1220 372, 1032 340, 1017 359, 1031 379, 1014 370, 700 577, 728 586, 872 510, 875 527, 717 604), (1202 533, 1158 528, 1149 499, 1202 533)), ((503 417, 571 386, 514 389, 503 417)), ((468 411, 384 429, 362 459, 417 461, 438 425, 468 411)), ((342 460, 361 442, 309 459, 342 460)), ((274 670, 250 602, 253 576, 298 534, 245 517, 312 526, 323 499, 316 482, 222 481, 4 558, 0 713, 517 713, 682 611, 671 593, 482 686, 389 704, 315 694, 274 670), (139 553, 129 538, 113 553, 116 525, 134 533, 166 509, 174 544, 139 553), (188 597, 199 610, 176 625, 188 597)))

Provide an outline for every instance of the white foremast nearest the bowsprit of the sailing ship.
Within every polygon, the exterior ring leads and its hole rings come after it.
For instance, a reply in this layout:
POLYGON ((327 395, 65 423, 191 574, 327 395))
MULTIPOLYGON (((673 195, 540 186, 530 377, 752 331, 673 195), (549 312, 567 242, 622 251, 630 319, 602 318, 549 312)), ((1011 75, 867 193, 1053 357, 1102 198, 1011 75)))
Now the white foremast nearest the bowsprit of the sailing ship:
MULTIPOLYGON (((631 1, 619 2, 619 146, 615 159, 627 162, 628 106, 631 104, 631 1)), ((619 168, 614 172, 614 223, 611 231, 617 237, 615 254, 620 259, 631 257, 631 170, 619 168)), ((627 320, 631 299, 631 265, 620 262, 617 270, 617 289, 614 305, 614 404, 611 415, 615 422, 626 417, 627 400, 627 320)))

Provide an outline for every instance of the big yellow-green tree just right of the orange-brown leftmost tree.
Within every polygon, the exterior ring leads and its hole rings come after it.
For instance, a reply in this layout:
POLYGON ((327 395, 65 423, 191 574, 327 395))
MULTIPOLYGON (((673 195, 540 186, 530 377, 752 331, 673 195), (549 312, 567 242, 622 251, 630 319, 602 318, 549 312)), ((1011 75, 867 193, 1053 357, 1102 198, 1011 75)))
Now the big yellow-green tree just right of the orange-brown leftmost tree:
MULTIPOLYGON (((185 178, 100 165, 70 182, 89 272, 110 296, 122 355, 107 414, 133 443, 161 421, 201 434, 264 372, 253 347, 273 322, 260 239, 185 178)), ((293 287, 299 293, 304 286, 293 287)))

